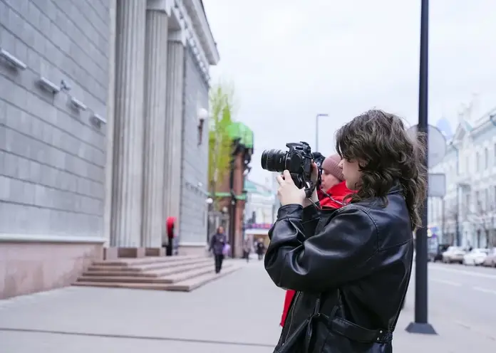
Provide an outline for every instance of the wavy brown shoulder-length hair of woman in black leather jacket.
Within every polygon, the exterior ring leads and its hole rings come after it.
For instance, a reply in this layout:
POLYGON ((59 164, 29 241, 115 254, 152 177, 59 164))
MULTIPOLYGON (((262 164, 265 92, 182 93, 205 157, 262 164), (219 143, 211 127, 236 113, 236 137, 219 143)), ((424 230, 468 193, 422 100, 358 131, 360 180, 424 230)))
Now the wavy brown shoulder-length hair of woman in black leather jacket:
POLYGON ((347 196, 353 203, 386 195, 399 182, 403 188, 412 228, 422 225, 427 194, 425 134, 412 139, 403 120, 382 110, 368 110, 336 132, 336 150, 347 161, 358 161, 361 184, 347 196))

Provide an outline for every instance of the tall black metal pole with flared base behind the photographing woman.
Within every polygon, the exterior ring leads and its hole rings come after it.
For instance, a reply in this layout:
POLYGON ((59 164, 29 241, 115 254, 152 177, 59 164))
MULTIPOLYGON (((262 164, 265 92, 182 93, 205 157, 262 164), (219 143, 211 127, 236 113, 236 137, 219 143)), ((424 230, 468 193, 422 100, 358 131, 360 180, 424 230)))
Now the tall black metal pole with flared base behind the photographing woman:
MULTIPOLYGON (((429 1, 422 0, 420 10, 420 77, 418 88, 418 131, 425 133, 425 144, 428 150, 428 66, 429 66, 429 1)), ((420 136, 420 135, 419 135, 420 136)), ((428 166, 427 154, 425 167, 428 166)), ((416 233, 415 259, 415 322, 411 322, 406 330, 411 333, 436 334, 428 323, 428 291, 427 291, 427 215, 428 202, 425 199, 422 213, 422 227, 416 233)))

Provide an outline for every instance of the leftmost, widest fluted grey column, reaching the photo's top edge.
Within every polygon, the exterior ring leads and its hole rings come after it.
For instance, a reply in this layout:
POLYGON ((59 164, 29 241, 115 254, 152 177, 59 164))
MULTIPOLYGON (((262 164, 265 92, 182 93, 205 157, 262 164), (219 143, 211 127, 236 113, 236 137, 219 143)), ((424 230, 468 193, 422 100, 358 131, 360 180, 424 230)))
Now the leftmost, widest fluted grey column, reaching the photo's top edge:
POLYGON ((117 1, 116 20, 112 245, 139 248, 146 1, 117 1))

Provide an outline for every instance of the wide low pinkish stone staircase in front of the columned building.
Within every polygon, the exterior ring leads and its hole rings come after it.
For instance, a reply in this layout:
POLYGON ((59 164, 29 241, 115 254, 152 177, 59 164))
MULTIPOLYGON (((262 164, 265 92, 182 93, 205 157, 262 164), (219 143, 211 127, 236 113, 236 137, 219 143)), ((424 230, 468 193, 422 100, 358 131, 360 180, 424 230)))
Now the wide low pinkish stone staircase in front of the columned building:
POLYGON ((93 263, 73 285, 190 292, 242 266, 225 260, 214 272, 214 259, 198 256, 119 258, 93 263))

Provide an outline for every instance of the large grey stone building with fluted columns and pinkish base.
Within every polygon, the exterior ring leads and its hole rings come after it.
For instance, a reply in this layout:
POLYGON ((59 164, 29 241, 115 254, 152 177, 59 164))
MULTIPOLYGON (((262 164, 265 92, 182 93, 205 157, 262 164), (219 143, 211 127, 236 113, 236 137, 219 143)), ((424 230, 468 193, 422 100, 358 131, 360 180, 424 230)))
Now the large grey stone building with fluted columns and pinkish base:
POLYGON ((218 61, 201 0, 0 0, 0 297, 160 253, 167 216, 205 245, 218 61))

